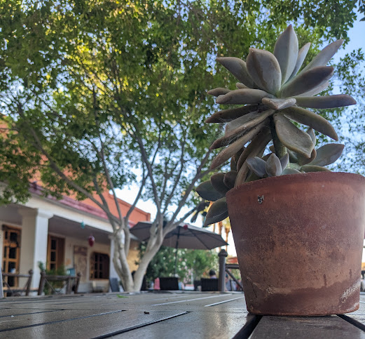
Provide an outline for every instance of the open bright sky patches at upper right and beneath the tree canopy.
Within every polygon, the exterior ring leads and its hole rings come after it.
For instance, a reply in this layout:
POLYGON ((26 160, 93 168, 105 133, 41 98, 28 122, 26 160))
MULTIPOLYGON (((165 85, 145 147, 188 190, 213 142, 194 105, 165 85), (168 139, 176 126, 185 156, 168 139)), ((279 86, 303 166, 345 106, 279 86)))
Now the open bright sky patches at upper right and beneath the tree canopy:
MULTIPOLYGON (((340 51, 336 53, 336 55, 333 57, 334 62, 339 62, 340 58, 343 58, 347 53, 351 53, 354 50, 357 50, 359 48, 362 48, 365 50, 365 21, 360 21, 361 18, 363 18, 364 15, 360 14, 358 15, 358 18, 356 22, 354 22, 354 27, 352 27, 348 31, 348 36, 350 37, 350 42, 340 51)), ((130 204, 132 204, 133 200, 135 199, 135 196, 137 195, 138 187, 132 186, 130 189, 125 188, 124 190, 117 191, 118 197, 120 199, 123 199, 130 204)), ((137 204, 138 208, 141 208, 142 210, 151 213, 151 219, 153 220, 153 216, 156 215, 156 207, 153 205, 153 202, 151 201, 139 201, 137 204)), ((184 209, 181 213, 184 214, 188 209, 184 209)), ((190 218, 188 218, 190 219, 190 218)), ((188 222, 188 220, 186 220, 188 222)), ((202 226, 202 218, 198 218, 196 222, 194 222, 192 225, 201 227, 202 226)), ((212 230, 212 226, 208 227, 208 230, 212 230)), ((226 235, 223 234, 223 239, 226 239, 226 235)), ((364 241, 365 244, 365 241, 364 241)), ((234 241, 232 237, 232 232, 228 235, 228 255, 235 256, 235 246, 234 241)), ((365 262, 365 252, 363 255, 363 262, 365 262)))

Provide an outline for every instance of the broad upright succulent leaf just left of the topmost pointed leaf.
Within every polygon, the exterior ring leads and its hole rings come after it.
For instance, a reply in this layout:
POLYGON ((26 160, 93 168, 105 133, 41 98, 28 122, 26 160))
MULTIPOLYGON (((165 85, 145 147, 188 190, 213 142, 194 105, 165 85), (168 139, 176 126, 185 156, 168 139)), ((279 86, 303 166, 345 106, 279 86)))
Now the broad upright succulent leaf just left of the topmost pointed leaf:
POLYGON ((273 53, 249 48, 246 65, 247 72, 259 88, 271 94, 276 94, 280 90, 282 72, 273 53))

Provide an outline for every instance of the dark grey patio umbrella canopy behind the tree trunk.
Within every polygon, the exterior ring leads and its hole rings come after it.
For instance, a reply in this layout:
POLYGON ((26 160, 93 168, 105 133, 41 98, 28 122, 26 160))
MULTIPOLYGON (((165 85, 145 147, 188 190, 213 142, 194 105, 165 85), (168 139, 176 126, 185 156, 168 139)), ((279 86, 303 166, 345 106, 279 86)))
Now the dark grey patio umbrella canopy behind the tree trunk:
MULTIPOLYGON (((130 229, 130 232, 139 240, 147 241, 150 237, 149 230, 151 225, 152 222, 140 221, 130 229)), ((163 246, 195 250, 211 250, 212 248, 226 245, 228 244, 221 235, 188 224, 180 224, 177 228, 167 233, 163 240, 163 246)))

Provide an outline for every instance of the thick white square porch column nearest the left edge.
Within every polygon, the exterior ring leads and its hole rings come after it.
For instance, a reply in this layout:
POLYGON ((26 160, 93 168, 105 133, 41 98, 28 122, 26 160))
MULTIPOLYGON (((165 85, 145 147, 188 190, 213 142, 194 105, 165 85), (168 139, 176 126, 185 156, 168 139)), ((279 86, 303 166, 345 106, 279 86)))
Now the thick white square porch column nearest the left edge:
POLYGON ((22 215, 22 243, 20 248, 20 270, 28 272, 33 270, 31 288, 38 288, 41 272, 39 261, 46 264, 47 241, 48 241, 48 219, 53 217, 52 213, 39 208, 20 208, 22 215))

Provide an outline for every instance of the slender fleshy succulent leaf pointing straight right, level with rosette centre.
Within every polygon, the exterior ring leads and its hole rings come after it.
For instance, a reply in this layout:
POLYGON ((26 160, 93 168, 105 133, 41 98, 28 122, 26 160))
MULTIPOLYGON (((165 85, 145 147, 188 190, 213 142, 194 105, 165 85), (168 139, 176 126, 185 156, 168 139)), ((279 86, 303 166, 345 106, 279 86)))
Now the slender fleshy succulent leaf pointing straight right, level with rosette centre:
POLYGON ((335 108, 356 105, 356 100, 347 94, 337 94, 318 97, 296 97, 296 104, 309 108, 335 108))

